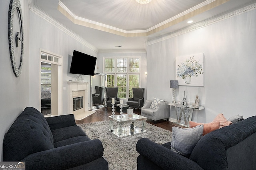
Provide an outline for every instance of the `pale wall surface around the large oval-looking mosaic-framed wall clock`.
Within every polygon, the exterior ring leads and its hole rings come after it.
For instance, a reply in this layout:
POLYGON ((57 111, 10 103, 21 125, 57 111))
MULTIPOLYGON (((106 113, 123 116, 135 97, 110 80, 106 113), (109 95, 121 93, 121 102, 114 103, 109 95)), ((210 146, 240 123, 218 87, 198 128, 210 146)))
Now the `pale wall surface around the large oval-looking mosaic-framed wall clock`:
MULTIPOLYGON (((23 67, 19 77, 14 75, 10 61, 8 41, 8 10, 10 0, 0 1, 0 156, 4 134, 8 131, 16 117, 29 104, 28 94, 28 41, 29 41, 29 9, 26 0, 20 0, 24 23, 23 67)), ((18 60, 20 57, 16 57, 18 60)), ((18 61, 16 61, 18 62, 18 61)), ((19 62, 18 62, 19 63, 19 62)))

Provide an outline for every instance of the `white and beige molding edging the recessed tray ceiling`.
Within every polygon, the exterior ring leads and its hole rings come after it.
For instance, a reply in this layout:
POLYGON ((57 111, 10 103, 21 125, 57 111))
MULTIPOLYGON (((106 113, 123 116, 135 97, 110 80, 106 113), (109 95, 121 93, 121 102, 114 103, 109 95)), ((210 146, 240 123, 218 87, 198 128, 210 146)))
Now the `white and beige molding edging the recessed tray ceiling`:
POLYGON ((119 29, 116 27, 112 27, 110 25, 106 25, 106 24, 102 24, 99 22, 95 22, 92 20, 87 20, 85 18, 78 17, 60 1, 58 3, 58 10, 75 24, 82 25, 85 27, 90 27, 93 29, 98 29, 100 31, 114 33, 116 35, 121 35, 124 37, 139 37, 139 36, 148 36, 148 35, 158 32, 158 31, 161 31, 161 30, 165 29, 166 27, 170 27, 172 25, 180 23, 184 20, 191 18, 192 16, 196 16, 198 14, 201 14, 202 12, 206 12, 206 11, 208 11, 212 8, 215 8, 216 6, 219 6, 221 4, 224 4, 228 1, 230 1, 230 0, 206 0, 205 2, 202 2, 201 4, 198 4, 197 6, 194 6, 193 8, 190 8, 190 9, 188 9, 188 10, 186 10, 186 11, 184 11, 166 21, 163 21, 162 23, 154 25, 153 27, 151 27, 149 29, 132 30, 132 31, 126 31, 124 29, 119 29))

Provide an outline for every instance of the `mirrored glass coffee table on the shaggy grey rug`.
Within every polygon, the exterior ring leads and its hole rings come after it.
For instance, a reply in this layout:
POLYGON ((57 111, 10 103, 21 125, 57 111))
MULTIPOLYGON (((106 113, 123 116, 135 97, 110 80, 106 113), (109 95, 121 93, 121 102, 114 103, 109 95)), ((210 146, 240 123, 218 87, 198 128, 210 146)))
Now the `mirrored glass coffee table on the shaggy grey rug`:
POLYGON ((133 113, 132 116, 130 117, 128 117, 128 114, 122 114, 122 115, 114 115, 114 117, 109 116, 108 118, 110 119, 109 131, 111 131, 114 135, 118 137, 126 137, 130 135, 146 132, 145 125, 146 125, 147 118, 142 115, 137 115, 133 113), (141 128, 136 127, 134 125, 134 122, 136 121, 141 121, 141 128), (118 128, 116 129, 113 128, 113 122, 116 122, 118 124, 118 128), (134 129, 131 129, 130 124, 129 126, 124 126, 124 123, 133 124, 132 127, 134 127, 134 129))

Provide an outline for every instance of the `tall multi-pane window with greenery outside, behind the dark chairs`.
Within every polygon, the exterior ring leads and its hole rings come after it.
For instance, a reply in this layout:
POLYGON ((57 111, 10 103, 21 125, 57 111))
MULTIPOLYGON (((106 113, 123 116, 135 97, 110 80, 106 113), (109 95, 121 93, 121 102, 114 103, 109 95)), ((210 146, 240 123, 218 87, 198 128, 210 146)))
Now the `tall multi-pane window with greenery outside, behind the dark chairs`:
POLYGON ((132 88, 140 87, 140 57, 104 57, 107 87, 118 87, 118 97, 132 98, 132 88))

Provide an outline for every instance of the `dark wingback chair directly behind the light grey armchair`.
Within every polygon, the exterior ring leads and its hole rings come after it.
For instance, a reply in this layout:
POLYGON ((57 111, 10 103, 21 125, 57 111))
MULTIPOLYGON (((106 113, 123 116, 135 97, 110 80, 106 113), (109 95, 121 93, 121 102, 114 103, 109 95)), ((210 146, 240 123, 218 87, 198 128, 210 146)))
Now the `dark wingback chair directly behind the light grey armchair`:
POLYGON ((128 104, 130 107, 140 109, 144 105, 144 88, 132 88, 133 98, 128 98, 128 104))

